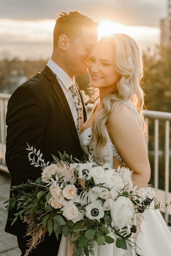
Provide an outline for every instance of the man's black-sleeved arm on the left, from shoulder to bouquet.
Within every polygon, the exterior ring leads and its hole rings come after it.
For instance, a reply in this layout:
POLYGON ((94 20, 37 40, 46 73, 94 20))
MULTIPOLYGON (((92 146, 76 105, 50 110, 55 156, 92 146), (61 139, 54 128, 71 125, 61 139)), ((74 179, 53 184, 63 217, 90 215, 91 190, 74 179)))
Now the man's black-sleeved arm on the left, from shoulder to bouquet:
POLYGON ((41 168, 30 165, 29 146, 39 150, 42 141, 45 115, 44 104, 39 93, 28 85, 22 85, 12 94, 6 115, 6 165, 15 184, 36 180, 41 168))

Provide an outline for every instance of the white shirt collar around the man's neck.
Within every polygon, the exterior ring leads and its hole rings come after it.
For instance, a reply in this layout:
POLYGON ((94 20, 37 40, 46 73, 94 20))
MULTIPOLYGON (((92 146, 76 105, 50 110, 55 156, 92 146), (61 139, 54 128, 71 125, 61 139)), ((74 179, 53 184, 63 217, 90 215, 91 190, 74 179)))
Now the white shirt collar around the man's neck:
POLYGON ((68 74, 60 68, 53 60, 49 59, 47 66, 56 74, 58 79, 63 83, 65 88, 68 90, 73 83, 75 83, 75 78, 73 80, 68 76, 68 74))

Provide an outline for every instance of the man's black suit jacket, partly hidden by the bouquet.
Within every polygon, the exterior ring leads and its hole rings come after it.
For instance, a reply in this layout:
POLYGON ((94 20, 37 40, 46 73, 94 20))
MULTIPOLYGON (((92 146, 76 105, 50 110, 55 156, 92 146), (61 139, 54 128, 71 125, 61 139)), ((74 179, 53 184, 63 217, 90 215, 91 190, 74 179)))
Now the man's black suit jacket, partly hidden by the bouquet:
MULTIPOLYGON (((84 121, 86 111, 84 108, 84 121)), ((83 153, 71 110, 51 69, 47 66, 34 77, 19 86, 8 102, 6 138, 6 165, 12 176, 11 186, 35 181, 41 176, 41 168, 30 165, 29 146, 41 150, 45 162, 53 161, 58 151, 82 159, 83 153)), ((24 235, 26 225, 19 218, 11 226, 15 209, 8 212, 5 231, 24 235)))

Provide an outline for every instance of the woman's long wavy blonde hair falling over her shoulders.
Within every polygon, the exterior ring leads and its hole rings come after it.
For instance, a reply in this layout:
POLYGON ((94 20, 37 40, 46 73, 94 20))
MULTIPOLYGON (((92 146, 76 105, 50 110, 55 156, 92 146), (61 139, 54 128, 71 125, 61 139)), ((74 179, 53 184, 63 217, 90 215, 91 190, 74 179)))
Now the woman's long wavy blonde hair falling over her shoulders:
POLYGON ((144 135, 146 123, 142 113, 144 92, 140 87, 140 81, 143 78, 143 61, 136 41, 125 34, 113 34, 100 40, 110 43, 114 47, 114 65, 119 74, 116 90, 104 97, 102 110, 97 114, 92 124, 92 136, 95 141, 96 152, 98 152, 98 155, 95 151, 94 154, 100 163, 104 163, 102 149, 107 143, 105 126, 108 124, 110 114, 114 113, 122 101, 132 100, 141 117, 144 135))

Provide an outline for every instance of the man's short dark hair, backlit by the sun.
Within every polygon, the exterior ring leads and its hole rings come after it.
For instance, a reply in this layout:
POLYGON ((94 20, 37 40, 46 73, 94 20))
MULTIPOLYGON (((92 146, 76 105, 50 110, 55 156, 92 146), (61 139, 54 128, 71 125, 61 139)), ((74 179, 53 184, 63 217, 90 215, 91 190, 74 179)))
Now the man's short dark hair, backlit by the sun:
POLYGON ((98 23, 79 11, 58 13, 53 34, 54 48, 57 47, 59 37, 62 34, 66 35, 70 41, 74 41, 79 37, 81 35, 81 26, 94 27, 96 31, 98 29, 98 23))

